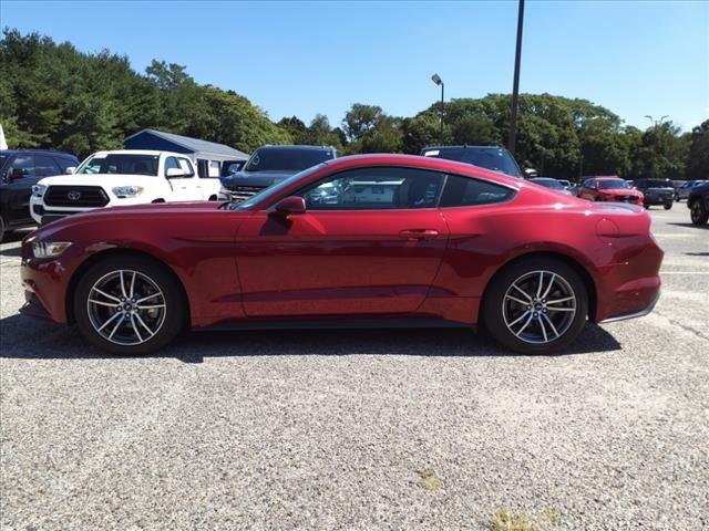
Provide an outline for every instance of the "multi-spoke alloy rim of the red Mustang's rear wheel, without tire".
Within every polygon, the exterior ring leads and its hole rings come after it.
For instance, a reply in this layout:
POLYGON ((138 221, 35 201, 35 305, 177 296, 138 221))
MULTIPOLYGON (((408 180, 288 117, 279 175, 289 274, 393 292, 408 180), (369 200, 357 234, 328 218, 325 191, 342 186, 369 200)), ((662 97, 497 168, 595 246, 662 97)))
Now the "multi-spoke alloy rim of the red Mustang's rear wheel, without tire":
POLYGON ((507 330, 518 340, 546 344, 562 337, 576 315, 576 294, 561 274, 531 271, 516 279, 502 301, 507 330))

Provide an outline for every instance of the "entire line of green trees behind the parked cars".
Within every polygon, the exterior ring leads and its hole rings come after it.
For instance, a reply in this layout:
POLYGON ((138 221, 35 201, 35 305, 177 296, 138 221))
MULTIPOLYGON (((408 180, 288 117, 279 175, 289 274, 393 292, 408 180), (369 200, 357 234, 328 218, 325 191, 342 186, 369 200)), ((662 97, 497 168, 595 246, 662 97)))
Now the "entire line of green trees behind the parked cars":
MULTIPOLYGON (((155 127, 251 152, 264 144, 331 145, 340 153, 411 153, 439 144, 504 145, 510 95, 436 102, 398 118, 353 104, 340 127, 317 115, 274 124, 246 97, 199 85, 185 66, 153 61, 145 74, 109 51, 79 52, 37 33, 6 30, 0 40, 0 123, 12 147, 85 156, 120 147, 155 127), (444 127, 441 139, 441 111, 444 127)), ((516 154, 521 166, 551 177, 709 178, 709 121, 680 135, 671 122, 646 131, 587 100, 521 94, 516 154)))

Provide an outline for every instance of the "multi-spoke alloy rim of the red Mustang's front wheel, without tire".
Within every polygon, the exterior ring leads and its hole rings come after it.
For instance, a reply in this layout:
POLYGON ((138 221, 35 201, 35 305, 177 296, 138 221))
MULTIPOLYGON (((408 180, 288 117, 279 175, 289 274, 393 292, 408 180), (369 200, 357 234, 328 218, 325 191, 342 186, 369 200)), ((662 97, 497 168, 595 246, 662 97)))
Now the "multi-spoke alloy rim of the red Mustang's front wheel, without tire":
POLYGON ((134 270, 112 271, 89 291, 89 320, 104 340, 140 345, 157 334, 165 322, 165 295, 150 277, 134 270))

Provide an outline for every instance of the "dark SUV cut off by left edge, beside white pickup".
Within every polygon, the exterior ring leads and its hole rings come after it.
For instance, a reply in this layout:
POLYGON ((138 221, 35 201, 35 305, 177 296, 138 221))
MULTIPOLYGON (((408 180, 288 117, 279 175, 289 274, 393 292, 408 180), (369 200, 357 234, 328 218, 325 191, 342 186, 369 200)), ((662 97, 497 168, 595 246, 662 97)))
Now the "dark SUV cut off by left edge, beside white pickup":
POLYGON ((68 153, 40 149, 0 150, 0 241, 9 230, 34 225, 30 196, 38 180, 79 166, 68 153))

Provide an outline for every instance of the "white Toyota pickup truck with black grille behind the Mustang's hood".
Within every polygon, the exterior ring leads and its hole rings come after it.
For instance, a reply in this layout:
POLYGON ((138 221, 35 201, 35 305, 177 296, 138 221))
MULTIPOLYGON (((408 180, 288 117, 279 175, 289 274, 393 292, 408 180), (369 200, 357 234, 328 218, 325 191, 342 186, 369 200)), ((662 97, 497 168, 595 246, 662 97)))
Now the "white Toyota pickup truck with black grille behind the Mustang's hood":
POLYGON ((68 174, 32 187, 30 212, 38 223, 93 208, 216 200, 219 192, 219 179, 199 178, 189 157, 171 152, 97 152, 68 174))

